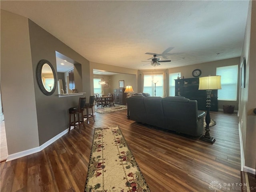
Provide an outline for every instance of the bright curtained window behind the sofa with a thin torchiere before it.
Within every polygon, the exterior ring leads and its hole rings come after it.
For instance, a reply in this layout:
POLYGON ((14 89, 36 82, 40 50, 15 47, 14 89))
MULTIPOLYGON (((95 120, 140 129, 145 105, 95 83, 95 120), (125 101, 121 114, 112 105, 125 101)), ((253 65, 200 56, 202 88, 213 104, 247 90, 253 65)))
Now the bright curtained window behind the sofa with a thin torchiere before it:
POLYGON ((144 75, 144 93, 149 93, 151 96, 155 96, 155 84, 156 82, 156 96, 162 97, 164 95, 164 75, 163 74, 150 74, 144 75))

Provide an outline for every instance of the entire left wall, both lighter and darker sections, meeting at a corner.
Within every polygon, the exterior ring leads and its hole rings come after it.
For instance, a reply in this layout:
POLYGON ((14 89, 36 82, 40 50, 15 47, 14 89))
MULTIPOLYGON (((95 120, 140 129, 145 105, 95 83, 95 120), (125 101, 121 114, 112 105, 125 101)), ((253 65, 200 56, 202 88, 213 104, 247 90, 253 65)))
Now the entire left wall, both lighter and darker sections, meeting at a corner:
POLYGON ((36 148, 68 128, 68 108, 80 96, 58 97, 40 90, 36 67, 41 59, 55 72, 58 51, 81 64, 81 92, 90 96, 89 62, 34 22, 1 10, 1 88, 8 154, 36 148))

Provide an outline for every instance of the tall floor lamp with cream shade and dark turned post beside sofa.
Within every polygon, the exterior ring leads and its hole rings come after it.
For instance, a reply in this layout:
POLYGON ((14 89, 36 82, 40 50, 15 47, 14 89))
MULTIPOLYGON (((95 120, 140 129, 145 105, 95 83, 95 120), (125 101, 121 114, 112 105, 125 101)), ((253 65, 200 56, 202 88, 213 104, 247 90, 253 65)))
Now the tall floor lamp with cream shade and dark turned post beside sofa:
POLYGON ((198 90, 206 90, 206 117, 205 117, 205 122, 206 122, 206 127, 205 127, 205 135, 200 137, 200 140, 209 142, 214 144, 216 141, 215 138, 210 136, 210 127, 209 124, 211 122, 210 118, 210 107, 211 107, 211 92, 212 90, 216 89, 221 89, 221 84, 220 84, 220 77, 221 76, 208 76, 208 77, 200 77, 199 78, 199 88, 198 90))

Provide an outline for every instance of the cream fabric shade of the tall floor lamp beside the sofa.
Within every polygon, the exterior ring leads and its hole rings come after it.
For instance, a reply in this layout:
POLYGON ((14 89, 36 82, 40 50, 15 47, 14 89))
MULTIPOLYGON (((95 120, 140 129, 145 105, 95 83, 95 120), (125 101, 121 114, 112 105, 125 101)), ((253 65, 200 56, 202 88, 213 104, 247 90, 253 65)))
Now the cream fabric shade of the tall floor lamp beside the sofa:
POLYGON ((199 78, 199 87, 198 90, 215 90, 221 89, 220 84, 221 76, 207 76, 199 78))

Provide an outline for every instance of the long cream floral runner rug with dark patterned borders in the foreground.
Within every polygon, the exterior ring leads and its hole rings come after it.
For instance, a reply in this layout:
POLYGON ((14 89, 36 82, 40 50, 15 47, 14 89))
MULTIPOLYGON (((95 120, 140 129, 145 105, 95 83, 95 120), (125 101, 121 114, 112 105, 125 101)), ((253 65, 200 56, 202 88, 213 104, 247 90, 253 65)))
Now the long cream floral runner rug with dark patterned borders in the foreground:
POLYGON ((94 129, 85 192, 150 192, 118 126, 94 129))

